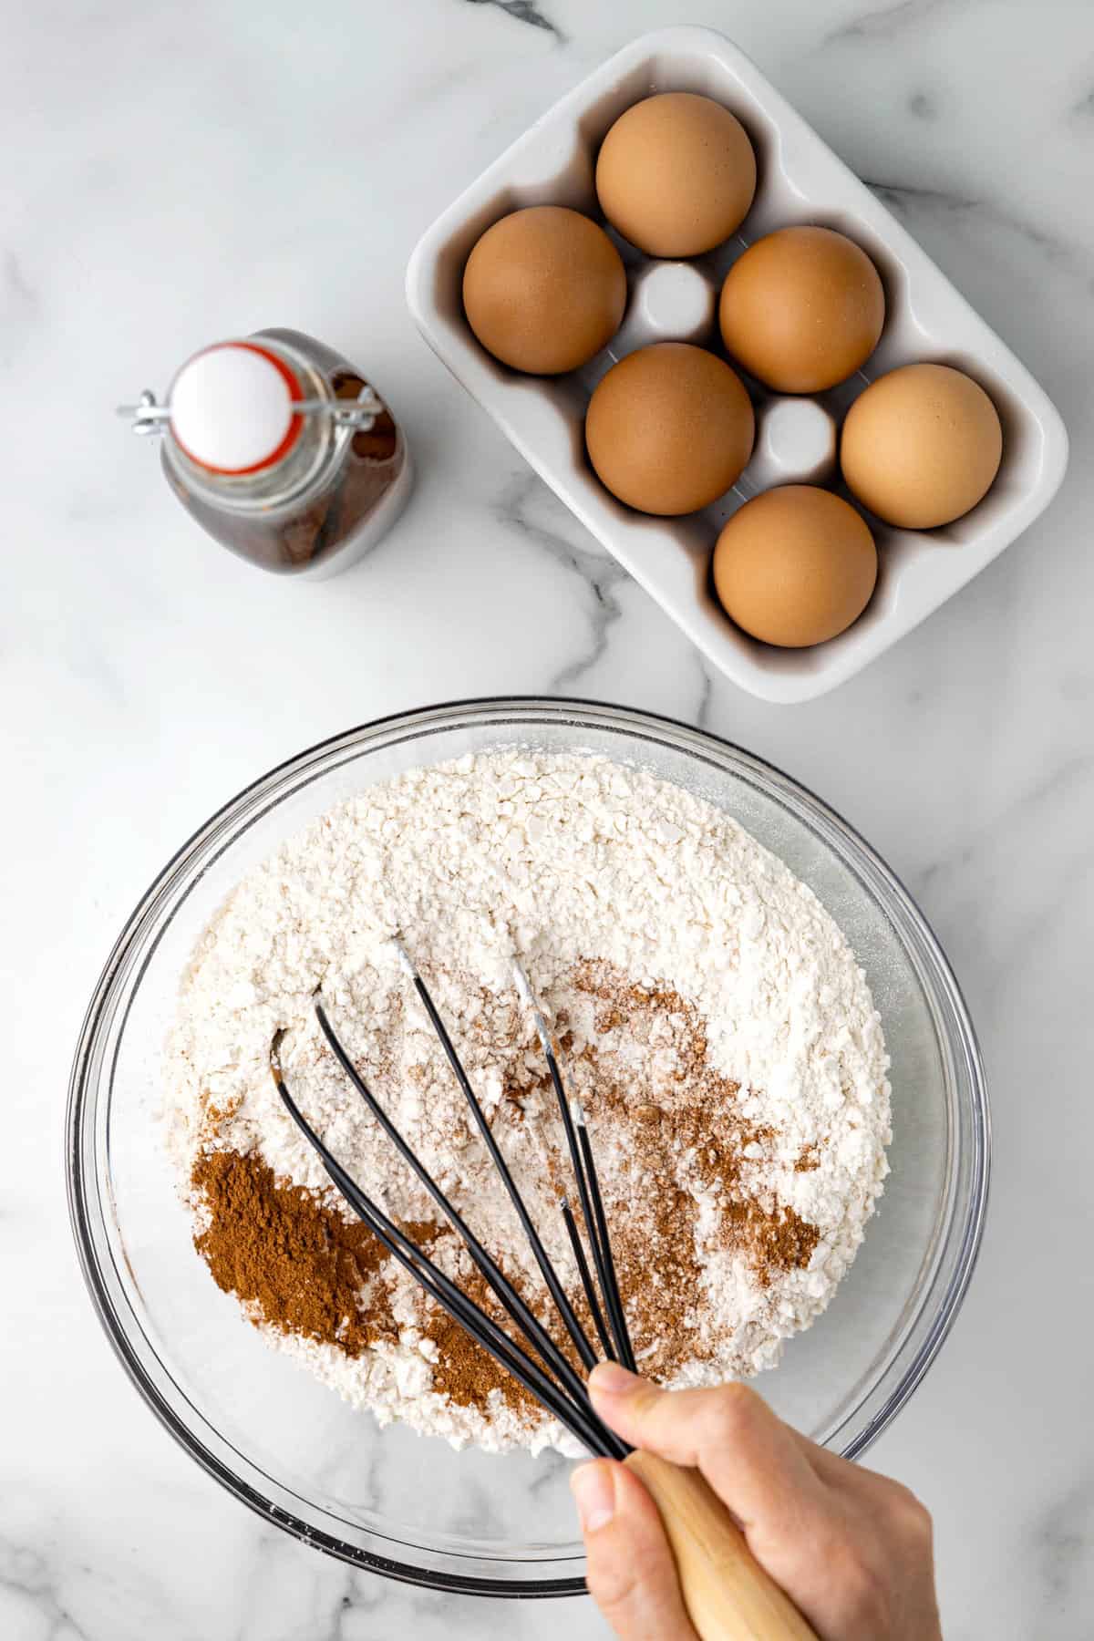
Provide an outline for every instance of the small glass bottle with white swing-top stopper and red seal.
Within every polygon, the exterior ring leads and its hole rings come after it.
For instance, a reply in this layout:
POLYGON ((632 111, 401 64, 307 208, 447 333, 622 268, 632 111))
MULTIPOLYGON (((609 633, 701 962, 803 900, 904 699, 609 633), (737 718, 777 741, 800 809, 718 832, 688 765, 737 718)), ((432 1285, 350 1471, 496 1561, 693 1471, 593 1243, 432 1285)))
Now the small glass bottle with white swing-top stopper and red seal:
POLYGON ((167 402, 128 407, 162 433, 172 491, 217 542, 280 576, 336 574, 387 533, 412 487, 407 441, 369 381, 297 330, 202 350, 167 402))

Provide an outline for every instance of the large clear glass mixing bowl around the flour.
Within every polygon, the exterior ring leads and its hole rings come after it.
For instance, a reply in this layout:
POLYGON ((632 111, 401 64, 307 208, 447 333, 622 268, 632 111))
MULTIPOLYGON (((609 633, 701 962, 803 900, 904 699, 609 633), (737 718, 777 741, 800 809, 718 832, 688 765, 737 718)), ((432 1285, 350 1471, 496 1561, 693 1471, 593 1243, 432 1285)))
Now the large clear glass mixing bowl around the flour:
POLYGON ((72 1070, 69 1198, 103 1328, 167 1429, 266 1520, 390 1577, 528 1597, 584 1587, 566 1460, 381 1431, 271 1351, 194 1252, 159 1118, 180 973, 243 873, 376 781, 513 745, 605 753, 730 811, 820 896, 866 970, 892 1057, 892 1175, 833 1303, 758 1382, 835 1452, 869 1446, 953 1323, 984 1219, 989 1121, 961 993, 907 891, 795 781, 681 724, 538 699, 410 712, 300 753, 179 850, 110 955, 72 1070))

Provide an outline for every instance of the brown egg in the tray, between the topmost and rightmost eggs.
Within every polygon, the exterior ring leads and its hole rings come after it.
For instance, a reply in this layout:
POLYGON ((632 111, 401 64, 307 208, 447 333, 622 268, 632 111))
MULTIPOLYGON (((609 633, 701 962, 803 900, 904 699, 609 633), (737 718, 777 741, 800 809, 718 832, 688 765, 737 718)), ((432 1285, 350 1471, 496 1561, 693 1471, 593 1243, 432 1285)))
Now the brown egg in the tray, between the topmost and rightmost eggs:
POLYGON ((727 350, 768 387, 817 394, 871 356, 886 294, 853 240, 832 228, 779 228, 730 267, 718 322, 727 350))

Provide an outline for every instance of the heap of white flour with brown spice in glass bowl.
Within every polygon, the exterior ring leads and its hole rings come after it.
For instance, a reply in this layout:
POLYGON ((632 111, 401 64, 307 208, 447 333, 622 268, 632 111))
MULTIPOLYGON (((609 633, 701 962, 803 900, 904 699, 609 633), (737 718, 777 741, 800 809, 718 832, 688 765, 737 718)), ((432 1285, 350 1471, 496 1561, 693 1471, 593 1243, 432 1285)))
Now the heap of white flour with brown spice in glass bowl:
POLYGON ((540 1301, 395 934, 571 1296, 559 1198, 572 1183, 513 955, 587 1109, 640 1365, 705 1383, 777 1362, 832 1298, 887 1172, 887 1057, 863 971, 812 891, 712 804, 605 758, 523 752, 415 770, 323 816, 244 878, 194 953, 167 1054, 171 1144, 198 1246, 269 1341, 382 1421, 492 1449, 559 1441, 410 1278, 364 1250, 269 1075, 285 1029, 297 1104, 467 1282, 466 1255, 430 1227, 436 1211, 318 1032, 321 986, 410 1145, 540 1301), (284 1216, 308 1221, 272 1298, 253 1260, 230 1257, 231 1213, 253 1200, 271 1268, 284 1216), (317 1321, 343 1232, 358 1241, 317 1321))

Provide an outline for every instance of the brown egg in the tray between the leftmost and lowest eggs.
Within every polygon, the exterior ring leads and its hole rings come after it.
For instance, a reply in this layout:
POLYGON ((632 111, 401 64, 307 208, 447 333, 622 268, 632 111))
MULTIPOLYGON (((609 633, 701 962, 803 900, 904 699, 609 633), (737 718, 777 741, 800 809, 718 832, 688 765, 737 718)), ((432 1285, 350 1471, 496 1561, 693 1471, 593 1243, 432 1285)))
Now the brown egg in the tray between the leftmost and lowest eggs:
POLYGON ((728 491, 753 450, 740 377, 705 348, 656 341, 620 359, 586 414, 597 476, 640 512, 686 514, 728 491))

